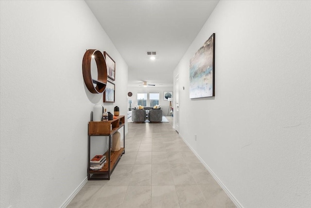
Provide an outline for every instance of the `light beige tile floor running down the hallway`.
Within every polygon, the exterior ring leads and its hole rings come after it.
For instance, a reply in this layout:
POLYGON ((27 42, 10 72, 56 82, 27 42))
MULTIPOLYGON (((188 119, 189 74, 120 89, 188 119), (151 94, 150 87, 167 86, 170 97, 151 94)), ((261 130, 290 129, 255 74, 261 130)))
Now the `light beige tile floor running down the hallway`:
POLYGON ((170 123, 128 123, 109 181, 87 181, 67 208, 236 208, 170 123))

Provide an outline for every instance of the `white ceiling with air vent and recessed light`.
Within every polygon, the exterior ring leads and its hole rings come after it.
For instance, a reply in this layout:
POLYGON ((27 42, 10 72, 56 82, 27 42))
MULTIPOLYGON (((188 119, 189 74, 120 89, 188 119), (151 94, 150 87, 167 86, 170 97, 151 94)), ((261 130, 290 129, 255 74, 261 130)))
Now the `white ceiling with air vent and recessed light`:
POLYGON ((138 86, 143 81, 173 86, 173 70, 218 0, 86 0, 86 3, 128 64, 129 86, 138 86), (156 51, 154 61, 147 51, 156 51))

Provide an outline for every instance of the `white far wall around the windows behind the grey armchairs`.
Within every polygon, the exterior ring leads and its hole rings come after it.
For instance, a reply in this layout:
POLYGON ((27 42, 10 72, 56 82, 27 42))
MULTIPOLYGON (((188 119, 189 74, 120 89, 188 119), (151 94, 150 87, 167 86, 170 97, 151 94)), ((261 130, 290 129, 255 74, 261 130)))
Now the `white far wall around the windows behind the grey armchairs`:
MULTIPOLYGON (((132 100, 132 108, 137 106, 137 93, 159 93, 160 99, 159 99, 159 105, 161 105, 161 110, 163 115, 168 115, 169 112, 169 105, 170 102, 167 100, 164 100, 164 92, 173 92, 173 86, 172 87, 128 87, 128 92, 132 92, 133 95, 131 97, 128 97, 128 100, 132 100)), ((174 94, 173 94, 174 97, 174 94)), ((172 103, 173 105, 173 103, 172 103)), ((150 106, 150 103, 147 103, 147 106, 150 106)))

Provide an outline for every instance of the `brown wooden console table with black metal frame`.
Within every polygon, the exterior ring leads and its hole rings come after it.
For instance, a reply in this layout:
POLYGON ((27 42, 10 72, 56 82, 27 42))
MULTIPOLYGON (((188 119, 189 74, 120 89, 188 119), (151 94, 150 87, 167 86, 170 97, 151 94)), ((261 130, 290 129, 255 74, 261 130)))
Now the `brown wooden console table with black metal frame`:
POLYGON ((110 180, 110 175, 118 164, 122 154, 125 153, 125 126, 124 115, 110 121, 88 122, 88 156, 87 156, 87 179, 88 180, 110 180), (123 127, 123 148, 120 151, 111 151, 112 135, 123 127), (108 136, 109 147, 106 155, 106 164, 101 170, 90 170, 91 136, 108 136))

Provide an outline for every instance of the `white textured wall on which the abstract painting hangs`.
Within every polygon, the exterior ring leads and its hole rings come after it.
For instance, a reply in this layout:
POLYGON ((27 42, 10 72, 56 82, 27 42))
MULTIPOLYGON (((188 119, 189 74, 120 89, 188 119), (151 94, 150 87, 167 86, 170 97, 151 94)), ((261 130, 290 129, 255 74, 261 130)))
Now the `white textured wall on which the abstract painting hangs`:
POLYGON ((310 11, 311 1, 220 1, 174 71, 180 135, 239 206, 311 206, 310 11), (215 97, 191 100, 189 60, 212 33, 215 97))

